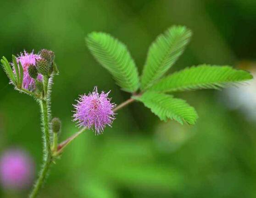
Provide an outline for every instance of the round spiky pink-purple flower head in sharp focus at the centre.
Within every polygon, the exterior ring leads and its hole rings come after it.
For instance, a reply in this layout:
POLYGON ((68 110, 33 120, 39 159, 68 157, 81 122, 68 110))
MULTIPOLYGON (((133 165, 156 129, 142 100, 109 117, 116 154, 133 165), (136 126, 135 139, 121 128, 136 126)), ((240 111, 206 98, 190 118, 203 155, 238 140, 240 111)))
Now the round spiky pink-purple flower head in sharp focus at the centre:
POLYGON ((84 94, 79 97, 78 104, 73 105, 75 107, 74 121, 79 127, 92 128, 94 126, 95 134, 99 135, 102 134, 106 125, 111 126, 115 119, 112 109, 116 105, 111 103, 111 99, 107 97, 109 92, 102 91, 99 94, 95 87, 88 96, 84 94))

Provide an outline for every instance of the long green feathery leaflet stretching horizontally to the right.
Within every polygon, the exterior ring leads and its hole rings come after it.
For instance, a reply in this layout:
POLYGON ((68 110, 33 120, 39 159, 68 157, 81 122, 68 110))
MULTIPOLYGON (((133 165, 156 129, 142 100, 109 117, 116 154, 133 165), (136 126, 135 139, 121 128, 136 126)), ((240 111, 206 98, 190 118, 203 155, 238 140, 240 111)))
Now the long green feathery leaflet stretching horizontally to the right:
POLYGON ((234 86, 252 75, 244 70, 235 70, 230 66, 202 64, 173 73, 150 87, 151 91, 171 92, 195 89, 219 89, 234 86))

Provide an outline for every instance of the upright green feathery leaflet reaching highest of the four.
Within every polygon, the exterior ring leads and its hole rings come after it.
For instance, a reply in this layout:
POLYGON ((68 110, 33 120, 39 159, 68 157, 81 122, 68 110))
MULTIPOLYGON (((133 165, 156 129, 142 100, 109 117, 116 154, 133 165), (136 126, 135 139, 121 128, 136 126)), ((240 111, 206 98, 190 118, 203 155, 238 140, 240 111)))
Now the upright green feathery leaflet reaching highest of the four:
POLYGON ((173 26, 156 38, 149 48, 141 76, 142 90, 149 88, 176 62, 191 35, 186 27, 173 26))

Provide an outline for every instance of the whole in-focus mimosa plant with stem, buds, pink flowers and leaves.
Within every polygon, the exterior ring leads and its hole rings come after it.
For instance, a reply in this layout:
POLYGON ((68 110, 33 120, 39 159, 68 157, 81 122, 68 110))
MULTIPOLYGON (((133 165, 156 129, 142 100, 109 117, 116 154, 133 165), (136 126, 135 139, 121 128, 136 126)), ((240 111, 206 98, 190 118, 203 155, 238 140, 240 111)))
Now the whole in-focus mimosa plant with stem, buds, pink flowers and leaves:
MULTIPOLYGON (((186 101, 175 98, 171 93, 198 89, 219 89, 234 86, 252 79, 244 70, 230 66, 202 64, 164 76, 173 66, 189 43, 192 33, 183 26, 170 27, 151 44, 141 76, 126 46, 116 38, 103 32, 92 32, 86 43, 95 59, 113 76, 122 91, 131 97, 120 105, 111 103, 110 92, 98 93, 95 86, 92 93, 81 95, 74 105, 73 120, 81 127, 80 131, 60 142, 58 134, 61 121, 51 119, 51 86, 59 70, 54 62, 55 53, 42 49, 39 54, 24 52, 12 62, 3 57, 1 64, 10 83, 17 91, 32 96, 39 103, 42 115, 42 139, 44 163, 29 198, 35 198, 45 182, 53 161, 56 161, 66 146, 85 130, 95 130, 102 134, 104 128, 115 119, 117 110, 131 102, 142 102, 145 107, 161 120, 176 120, 184 124, 195 124, 198 115, 194 107, 186 101)), ((54 102, 53 102, 54 104, 54 102)))

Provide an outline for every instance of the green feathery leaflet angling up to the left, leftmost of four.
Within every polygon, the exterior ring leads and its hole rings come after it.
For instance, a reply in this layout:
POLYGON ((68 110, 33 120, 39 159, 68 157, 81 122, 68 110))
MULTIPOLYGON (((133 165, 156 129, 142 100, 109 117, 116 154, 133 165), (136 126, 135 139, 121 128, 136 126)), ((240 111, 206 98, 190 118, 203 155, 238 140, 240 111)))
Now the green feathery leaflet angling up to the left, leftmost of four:
POLYGON ((123 43, 102 32, 90 33, 86 42, 95 59, 113 75, 123 91, 138 90, 138 70, 123 43))

